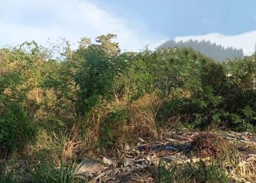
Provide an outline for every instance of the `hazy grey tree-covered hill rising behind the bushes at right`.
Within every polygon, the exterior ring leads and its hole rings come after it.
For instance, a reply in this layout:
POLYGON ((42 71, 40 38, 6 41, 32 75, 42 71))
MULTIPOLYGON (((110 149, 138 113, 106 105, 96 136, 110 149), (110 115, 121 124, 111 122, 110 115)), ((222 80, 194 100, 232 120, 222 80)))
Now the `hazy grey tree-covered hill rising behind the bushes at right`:
POLYGON ((243 58, 242 49, 235 49, 233 47, 224 48, 221 45, 212 44, 209 41, 205 42, 205 40, 202 42, 198 42, 197 40, 175 42, 171 40, 161 44, 157 47, 157 50, 168 47, 191 47, 217 61, 225 61, 229 58, 243 58))

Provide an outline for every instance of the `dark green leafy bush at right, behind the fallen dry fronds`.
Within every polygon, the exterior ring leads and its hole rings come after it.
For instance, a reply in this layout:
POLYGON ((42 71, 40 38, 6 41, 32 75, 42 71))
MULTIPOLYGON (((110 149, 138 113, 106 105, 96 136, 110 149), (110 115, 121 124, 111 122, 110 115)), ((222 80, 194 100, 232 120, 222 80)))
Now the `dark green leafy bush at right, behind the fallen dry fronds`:
POLYGON ((190 90, 189 97, 166 100, 157 119, 168 122, 175 116, 192 129, 213 126, 254 132, 256 90, 253 83, 248 84, 253 81, 253 76, 247 76, 247 72, 242 76, 227 76, 225 66, 219 63, 203 63, 201 67, 200 90, 190 90))

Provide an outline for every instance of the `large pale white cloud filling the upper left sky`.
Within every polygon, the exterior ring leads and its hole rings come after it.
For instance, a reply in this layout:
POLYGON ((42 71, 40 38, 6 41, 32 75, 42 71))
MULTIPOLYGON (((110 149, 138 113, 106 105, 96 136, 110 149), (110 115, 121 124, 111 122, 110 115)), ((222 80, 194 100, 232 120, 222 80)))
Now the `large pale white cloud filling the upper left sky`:
POLYGON ((136 22, 118 17, 88 0, 3 0, 0 45, 28 40, 45 44, 47 38, 66 38, 77 43, 83 36, 115 33, 122 49, 138 51, 159 40, 136 22))

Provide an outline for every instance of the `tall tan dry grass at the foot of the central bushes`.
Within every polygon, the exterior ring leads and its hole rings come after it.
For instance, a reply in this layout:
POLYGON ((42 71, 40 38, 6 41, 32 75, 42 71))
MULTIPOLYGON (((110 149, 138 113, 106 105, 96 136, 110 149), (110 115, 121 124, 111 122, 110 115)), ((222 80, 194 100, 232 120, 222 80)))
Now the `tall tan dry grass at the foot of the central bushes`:
POLYGON ((81 154, 88 156, 99 154, 100 150, 95 148, 95 144, 99 143, 100 129, 104 125, 109 111, 128 107, 130 111, 129 123, 116 126, 113 131, 113 136, 115 136, 115 149, 108 150, 108 152, 113 154, 116 148, 122 148, 124 143, 129 143, 129 141, 133 141, 134 138, 145 137, 157 139, 161 134, 159 129, 157 129, 156 122, 156 113, 160 104, 161 100, 157 95, 151 94, 134 101, 131 106, 128 106, 125 100, 115 100, 108 106, 95 107, 88 115, 86 122, 83 122, 83 118, 77 119, 77 122, 74 123, 70 132, 70 136, 73 141, 84 139, 82 140, 83 143, 79 145, 81 154), (83 125, 86 125, 86 136, 81 138, 83 125))

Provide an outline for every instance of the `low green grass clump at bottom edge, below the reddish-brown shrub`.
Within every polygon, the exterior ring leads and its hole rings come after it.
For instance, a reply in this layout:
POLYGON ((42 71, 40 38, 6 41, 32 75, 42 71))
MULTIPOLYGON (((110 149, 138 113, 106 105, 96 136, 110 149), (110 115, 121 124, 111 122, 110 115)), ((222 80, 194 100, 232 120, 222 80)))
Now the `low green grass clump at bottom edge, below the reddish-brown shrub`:
POLYGON ((207 166, 204 161, 196 163, 167 164, 162 159, 157 168, 156 182, 208 182, 226 183, 229 182, 225 170, 218 163, 211 163, 207 166))

